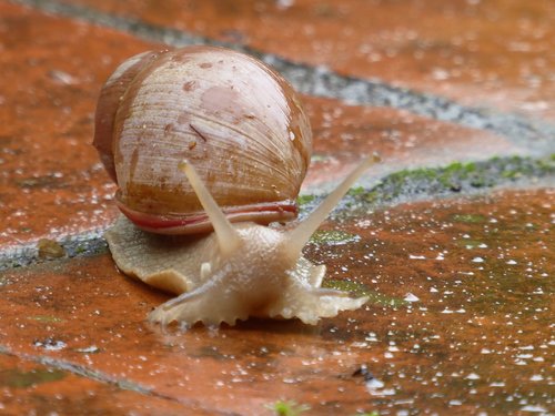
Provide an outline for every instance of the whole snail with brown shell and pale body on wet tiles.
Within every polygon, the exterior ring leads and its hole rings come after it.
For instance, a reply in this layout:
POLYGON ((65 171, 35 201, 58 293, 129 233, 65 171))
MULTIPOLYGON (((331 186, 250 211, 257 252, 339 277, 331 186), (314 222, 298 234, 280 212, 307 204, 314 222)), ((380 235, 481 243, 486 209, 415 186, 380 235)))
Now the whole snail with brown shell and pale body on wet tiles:
POLYGON ((105 232, 118 267, 178 295, 149 321, 316 324, 367 301, 321 287, 325 266, 302 248, 374 159, 300 224, 275 225, 296 217, 312 133, 262 62, 212 47, 130 58, 101 91, 93 144, 124 214, 105 232))

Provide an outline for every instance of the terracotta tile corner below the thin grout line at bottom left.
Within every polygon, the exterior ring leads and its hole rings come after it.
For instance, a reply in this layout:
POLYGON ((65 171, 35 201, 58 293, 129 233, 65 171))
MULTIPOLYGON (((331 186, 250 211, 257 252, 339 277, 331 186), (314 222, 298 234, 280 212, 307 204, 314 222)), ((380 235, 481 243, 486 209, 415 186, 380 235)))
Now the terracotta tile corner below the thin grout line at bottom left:
POLYGON ((179 404, 77 376, 54 366, 0 353, 0 413, 2 415, 121 415, 188 412, 205 414, 179 404), (109 398, 109 399, 108 399, 109 398))

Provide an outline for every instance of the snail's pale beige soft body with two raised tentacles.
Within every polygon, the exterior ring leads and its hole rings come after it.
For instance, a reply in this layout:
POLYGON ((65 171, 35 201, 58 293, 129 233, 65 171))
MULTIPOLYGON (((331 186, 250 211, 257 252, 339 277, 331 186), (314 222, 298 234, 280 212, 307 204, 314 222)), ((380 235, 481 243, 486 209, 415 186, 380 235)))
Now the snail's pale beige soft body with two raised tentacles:
POLYGON ((169 237, 138 230, 121 217, 107 232, 113 258, 128 275, 179 294, 157 307, 151 322, 191 326, 226 323, 249 316, 297 317, 316 324, 321 317, 361 307, 367 297, 322 288, 324 265, 302 256, 302 248, 353 182, 373 162, 366 159, 294 230, 251 222, 230 223, 198 176, 185 173, 214 232, 201 237, 169 237))

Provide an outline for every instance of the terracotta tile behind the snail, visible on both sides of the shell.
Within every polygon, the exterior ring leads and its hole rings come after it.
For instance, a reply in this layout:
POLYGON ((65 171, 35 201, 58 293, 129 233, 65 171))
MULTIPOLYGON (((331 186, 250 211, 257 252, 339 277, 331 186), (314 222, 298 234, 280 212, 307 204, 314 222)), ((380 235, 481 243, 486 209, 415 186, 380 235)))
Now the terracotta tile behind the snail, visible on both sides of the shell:
MULTIPOLYGON (((7 3, 0 11, 0 245, 103 227, 117 210, 115 187, 90 145, 97 94, 120 61, 160 45, 7 3)), ((376 174, 518 151, 492 133, 395 110, 305 102, 316 155, 306 187, 336 180, 373 151, 384 156, 376 174)))

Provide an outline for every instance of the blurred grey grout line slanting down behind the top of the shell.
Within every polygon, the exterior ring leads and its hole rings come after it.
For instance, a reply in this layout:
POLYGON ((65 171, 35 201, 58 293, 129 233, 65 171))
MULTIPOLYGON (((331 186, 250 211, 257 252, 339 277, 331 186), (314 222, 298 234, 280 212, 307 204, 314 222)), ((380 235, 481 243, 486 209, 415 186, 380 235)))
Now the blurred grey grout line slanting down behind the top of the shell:
POLYGON ((555 151, 553 141, 555 125, 541 120, 531 120, 516 113, 465 106, 440 95, 420 93, 376 80, 341 75, 324 67, 293 62, 250 47, 215 41, 138 19, 118 17, 84 6, 62 3, 57 0, 11 1, 44 12, 123 31, 151 42, 161 42, 173 47, 211 44, 233 48, 273 65, 293 83, 297 91, 304 94, 339 99, 347 104, 390 106, 472 129, 487 130, 501 134, 516 144, 534 148, 532 152, 538 155, 555 151))

